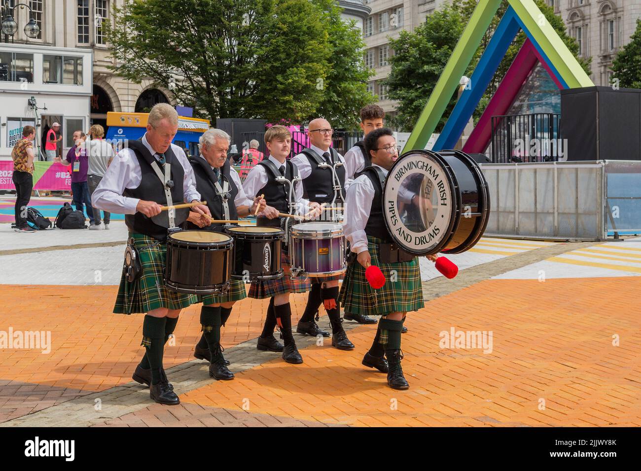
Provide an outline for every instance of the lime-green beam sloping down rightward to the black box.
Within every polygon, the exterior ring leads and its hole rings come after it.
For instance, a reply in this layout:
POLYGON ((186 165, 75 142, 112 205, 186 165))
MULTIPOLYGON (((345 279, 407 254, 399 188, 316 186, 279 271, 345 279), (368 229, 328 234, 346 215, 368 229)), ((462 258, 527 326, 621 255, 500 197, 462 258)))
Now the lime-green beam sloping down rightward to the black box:
POLYGON ((508 0, 508 2, 568 87, 594 87, 588 74, 585 73, 549 21, 545 19, 545 15, 539 10, 534 0, 508 0))

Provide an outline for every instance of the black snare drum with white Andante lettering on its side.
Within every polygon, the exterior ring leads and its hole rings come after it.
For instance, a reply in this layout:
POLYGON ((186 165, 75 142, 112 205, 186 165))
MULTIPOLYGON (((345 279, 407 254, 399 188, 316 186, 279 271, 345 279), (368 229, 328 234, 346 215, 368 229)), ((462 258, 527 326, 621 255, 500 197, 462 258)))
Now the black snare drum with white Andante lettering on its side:
POLYGON ((231 277, 263 281, 283 277, 281 240, 277 227, 232 226, 225 229, 234 238, 231 277))

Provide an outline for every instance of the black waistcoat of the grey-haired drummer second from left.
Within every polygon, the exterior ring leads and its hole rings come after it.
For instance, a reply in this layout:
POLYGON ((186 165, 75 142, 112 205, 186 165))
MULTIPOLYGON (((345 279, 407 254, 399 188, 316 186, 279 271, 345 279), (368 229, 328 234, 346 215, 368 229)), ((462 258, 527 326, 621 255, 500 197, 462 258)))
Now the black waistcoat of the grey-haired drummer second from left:
MULTIPOLYGON (((189 163, 192 164, 194 169, 194 177, 196 178, 196 190, 201 194, 201 201, 206 201, 209 210, 212 212, 213 219, 226 219, 225 212, 222 209, 222 197, 216 194, 216 174, 212 170, 212 166, 209 165, 208 161, 204 160, 203 157, 192 157, 189 160, 189 163)), ((236 205, 234 200, 238 194, 238 188, 235 185, 234 181, 229 175, 229 159, 225 160, 224 165, 221 167, 222 170, 222 183, 221 188, 224 184, 224 181, 229 182, 229 197, 227 204, 229 206, 229 219, 236 220, 238 219, 238 212, 236 210, 236 205)), ((211 224, 210 226, 198 227, 192 222, 185 222, 185 229, 198 229, 205 231, 221 231, 221 226, 223 224, 211 224)))

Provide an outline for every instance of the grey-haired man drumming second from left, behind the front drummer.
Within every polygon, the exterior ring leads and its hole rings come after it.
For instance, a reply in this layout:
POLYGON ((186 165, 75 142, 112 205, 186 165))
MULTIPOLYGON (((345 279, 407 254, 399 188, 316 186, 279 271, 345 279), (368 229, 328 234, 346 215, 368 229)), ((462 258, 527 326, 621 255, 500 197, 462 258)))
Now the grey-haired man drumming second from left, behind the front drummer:
MULTIPOLYGON (((189 163, 194 169, 196 189, 207 202, 215 220, 237 220, 265 209, 265 200, 260 197, 252 201, 247 197, 240 183, 240 177, 229 164, 229 135, 221 129, 208 129, 199 139, 200 156, 192 157, 189 163)), ((190 213, 187 229, 206 229, 222 232, 226 223, 212 223, 208 217, 190 213)), ((196 358, 210 362, 209 374, 215 379, 233 379, 234 375, 222 356, 221 326, 231 314, 236 301, 247 297, 245 283, 240 279, 231 280, 228 292, 222 295, 199 295, 203 336, 194 349, 196 358)))

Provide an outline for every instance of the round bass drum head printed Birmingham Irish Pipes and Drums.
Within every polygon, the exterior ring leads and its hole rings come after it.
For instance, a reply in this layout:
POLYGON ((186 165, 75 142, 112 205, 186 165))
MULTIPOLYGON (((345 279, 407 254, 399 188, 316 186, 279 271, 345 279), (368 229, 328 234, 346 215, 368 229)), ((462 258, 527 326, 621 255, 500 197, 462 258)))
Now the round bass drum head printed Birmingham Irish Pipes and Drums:
POLYGON ((415 255, 440 252, 456 231, 460 195, 449 164, 431 151, 409 151, 383 188, 385 224, 395 244, 415 255))

